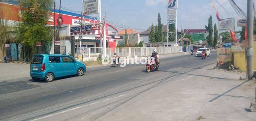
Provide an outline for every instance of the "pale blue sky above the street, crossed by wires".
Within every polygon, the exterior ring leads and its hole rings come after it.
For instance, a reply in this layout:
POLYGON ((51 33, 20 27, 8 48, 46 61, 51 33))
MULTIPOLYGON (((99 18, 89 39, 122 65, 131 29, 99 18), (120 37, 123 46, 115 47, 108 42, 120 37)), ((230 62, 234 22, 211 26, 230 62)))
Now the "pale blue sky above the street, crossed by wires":
MULTIPOLYGON (((228 0, 217 0, 227 11, 219 6, 216 0, 209 0, 218 9, 221 19, 235 17, 241 19, 234 11, 228 0)), ((213 23, 218 25, 215 11, 208 0, 178 0, 177 28, 205 29, 208 18, 213 17, 213 23)), ((247 0, 234 0, 246 12, 247 0)), ((254 0, 256 2, 256 0, 254 0)), ((55 0, 59 5, 59 0, 55 0)), ((162 23, 167 24, 167 0, 102 0, 102 16, 106 13, 107 22, 117 26, 117 29, 135 29, 143 32, 153 23, 157 24, 157 14, 161 14, 162 23)), ((83 10, 82 0, 61 0, 61 6, 74 12, 83 10)), ((95 15, 99 16, 99 15, 95 15)), ((236 21, 235 21, 236 25, 236 21)), ((236 30, 241 28, 236 26, 236 30)))

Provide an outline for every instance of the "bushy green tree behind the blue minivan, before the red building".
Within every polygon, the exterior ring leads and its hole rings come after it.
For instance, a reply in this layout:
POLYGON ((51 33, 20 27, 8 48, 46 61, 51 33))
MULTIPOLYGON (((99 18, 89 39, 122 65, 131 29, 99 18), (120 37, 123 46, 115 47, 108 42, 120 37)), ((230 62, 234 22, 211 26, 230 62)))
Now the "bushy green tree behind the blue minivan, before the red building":
POLYGON ((19 0, 22 23, 18 23, 17 42, 22 42, 26 58, 36 53, 36 42, 50 43, 52 28, 47 27, 52 0, 19 0))

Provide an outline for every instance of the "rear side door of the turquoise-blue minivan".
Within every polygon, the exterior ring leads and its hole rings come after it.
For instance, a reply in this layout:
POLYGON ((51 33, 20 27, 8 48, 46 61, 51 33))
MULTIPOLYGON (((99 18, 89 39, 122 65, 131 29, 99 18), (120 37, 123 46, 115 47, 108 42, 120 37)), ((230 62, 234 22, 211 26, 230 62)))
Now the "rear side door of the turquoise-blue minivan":
POLYGON ((58 56, 49 57, 49 68, 50 72, 54 74, 55 77, 61 77, 63 75, 63 66, 61 64, 61 59, 58 56))

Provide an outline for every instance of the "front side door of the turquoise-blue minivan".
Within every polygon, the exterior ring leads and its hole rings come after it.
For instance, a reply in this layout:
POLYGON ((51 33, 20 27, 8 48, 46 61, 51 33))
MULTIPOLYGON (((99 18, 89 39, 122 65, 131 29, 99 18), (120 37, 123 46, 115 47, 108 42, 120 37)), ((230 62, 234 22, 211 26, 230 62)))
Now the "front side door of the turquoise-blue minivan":
POLYGON ((70 57, 61 57, 63 70, 65 75, 75 75, 76 74, 76 61, 70 57))

